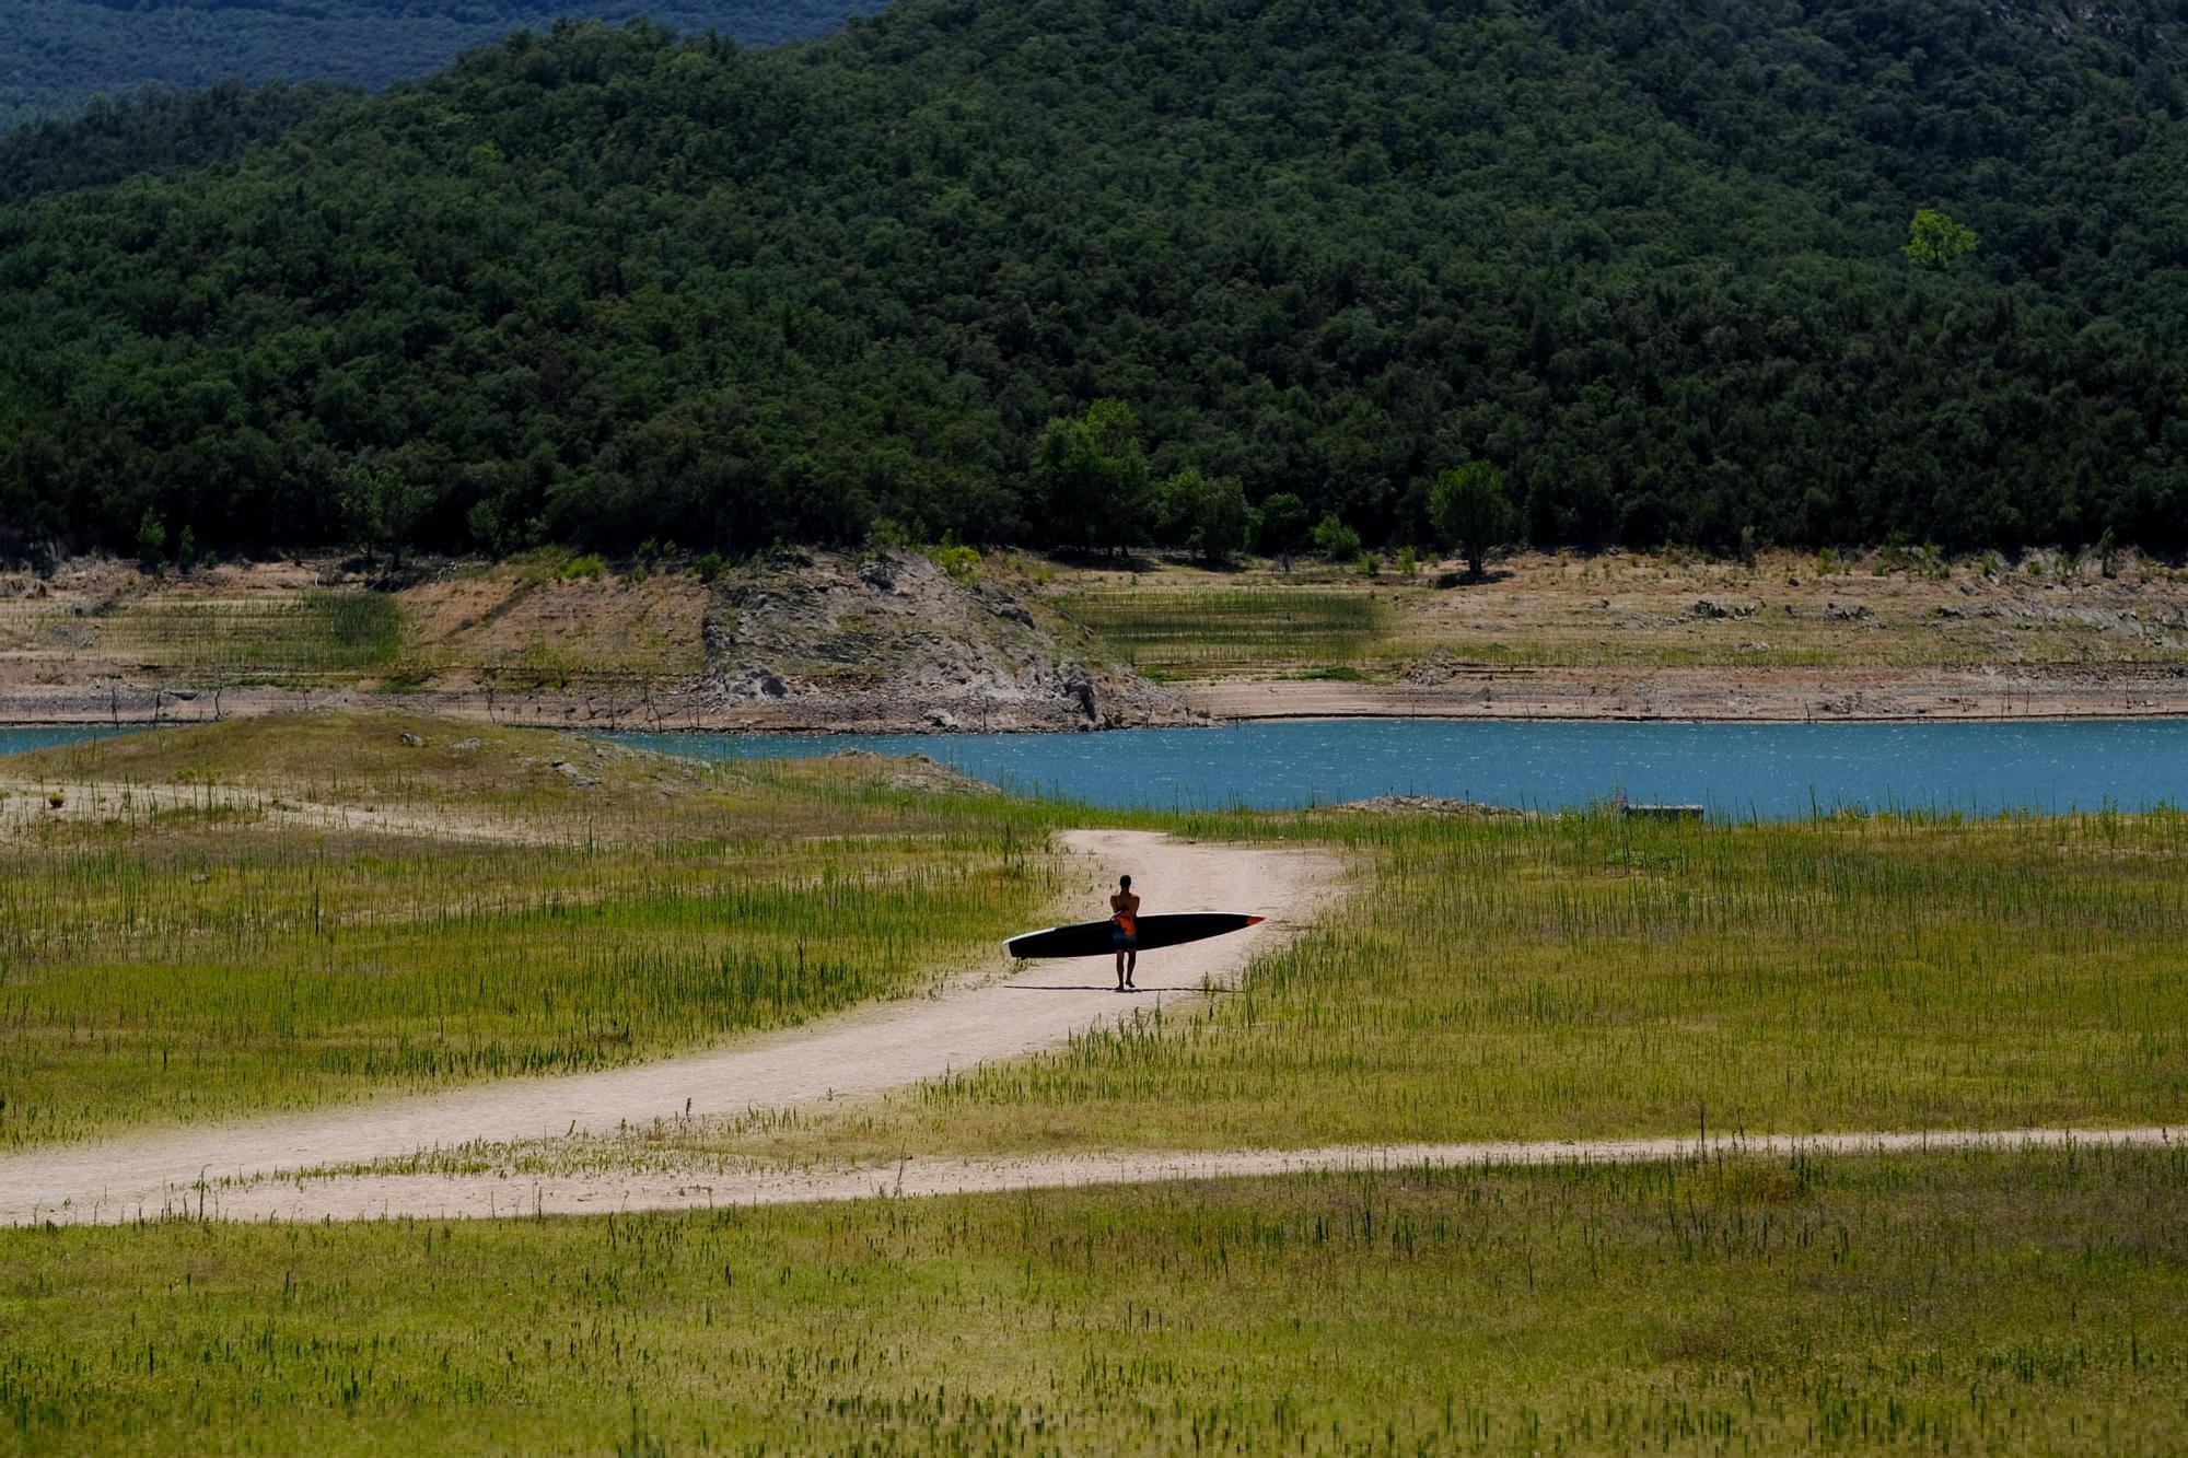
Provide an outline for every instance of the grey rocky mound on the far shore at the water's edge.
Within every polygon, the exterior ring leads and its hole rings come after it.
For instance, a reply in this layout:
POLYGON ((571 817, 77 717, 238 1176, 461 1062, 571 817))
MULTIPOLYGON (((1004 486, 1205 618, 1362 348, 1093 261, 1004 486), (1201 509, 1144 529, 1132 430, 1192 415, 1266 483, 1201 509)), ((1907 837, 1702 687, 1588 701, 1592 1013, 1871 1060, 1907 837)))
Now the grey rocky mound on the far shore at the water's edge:
POLYGON ((707 615, 711 709, 755 729, 982 731, 1203 722, 1092 661, 1015 593, 919 554, 759 563, 707 615))

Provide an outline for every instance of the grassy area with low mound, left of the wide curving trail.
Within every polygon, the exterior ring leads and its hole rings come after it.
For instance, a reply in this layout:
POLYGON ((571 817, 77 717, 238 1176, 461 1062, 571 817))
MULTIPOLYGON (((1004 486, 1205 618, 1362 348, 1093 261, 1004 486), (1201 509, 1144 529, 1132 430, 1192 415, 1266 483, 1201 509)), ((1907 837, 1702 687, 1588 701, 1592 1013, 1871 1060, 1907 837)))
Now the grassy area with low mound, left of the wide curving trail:
POLYGON ((893 773, 392 714, 0 760, 31 817, 0 836, 0 1147, 602 1068, 923 990, 1055 869, 1044 812, 893 773))

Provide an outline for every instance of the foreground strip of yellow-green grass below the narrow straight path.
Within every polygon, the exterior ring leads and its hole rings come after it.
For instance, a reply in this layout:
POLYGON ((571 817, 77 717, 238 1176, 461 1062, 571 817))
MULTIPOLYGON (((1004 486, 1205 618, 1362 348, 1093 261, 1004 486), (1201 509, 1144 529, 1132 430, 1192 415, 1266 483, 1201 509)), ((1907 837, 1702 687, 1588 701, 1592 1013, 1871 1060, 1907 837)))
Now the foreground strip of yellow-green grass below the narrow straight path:
POLYGON ((0 1233, 20 1451, 2179 1451, 2188 1156, 0 1233))

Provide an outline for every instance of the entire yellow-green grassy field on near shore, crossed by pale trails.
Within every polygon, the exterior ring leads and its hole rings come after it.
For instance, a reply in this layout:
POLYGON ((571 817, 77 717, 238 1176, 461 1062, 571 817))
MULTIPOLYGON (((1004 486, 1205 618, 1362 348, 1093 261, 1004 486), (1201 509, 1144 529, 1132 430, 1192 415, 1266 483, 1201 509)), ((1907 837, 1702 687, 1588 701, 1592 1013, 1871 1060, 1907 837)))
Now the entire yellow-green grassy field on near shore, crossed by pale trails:
MULTIPOLYGON (((917 992, 1120 819, 392 714, 0 777, 15 1147, 917 992)), ((1192 1011, 512 1162, 2188 1116, 2188 814, 1125 819, 1348 898, 1192 1011)), ((2170 1451, 2184 1390, 2184 1149, 0 1230, 0 1451, 2170 1451)))

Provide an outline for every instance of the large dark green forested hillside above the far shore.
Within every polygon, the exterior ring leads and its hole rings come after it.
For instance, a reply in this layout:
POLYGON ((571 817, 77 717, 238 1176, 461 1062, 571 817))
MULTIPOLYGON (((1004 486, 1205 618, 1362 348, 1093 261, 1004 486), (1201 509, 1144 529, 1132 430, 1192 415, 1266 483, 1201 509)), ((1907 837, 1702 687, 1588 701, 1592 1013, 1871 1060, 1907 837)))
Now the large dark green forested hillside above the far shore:
POLYGON ((2173 11, 908 0, 783 50, 516 35, 234 162, 0 210, 0 521, 1103 541, 1199 473, 1378 545, 1483 460, 1545 543, 2170 552, 2173 11))

